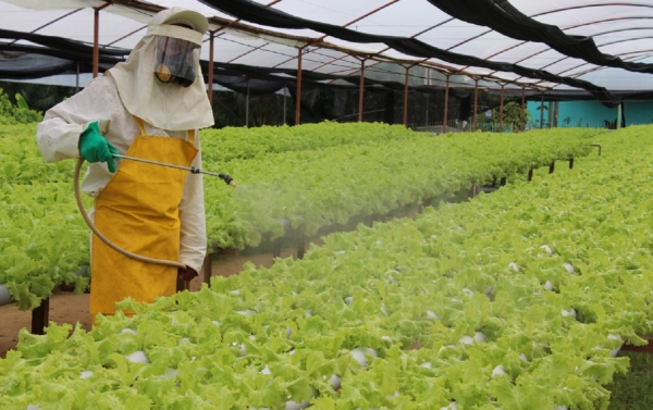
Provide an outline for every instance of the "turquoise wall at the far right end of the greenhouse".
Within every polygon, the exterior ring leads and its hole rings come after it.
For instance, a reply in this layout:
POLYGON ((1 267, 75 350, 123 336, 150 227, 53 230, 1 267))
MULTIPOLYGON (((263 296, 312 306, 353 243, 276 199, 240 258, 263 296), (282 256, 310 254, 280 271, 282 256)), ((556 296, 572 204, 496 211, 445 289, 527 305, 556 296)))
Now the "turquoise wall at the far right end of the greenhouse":
MULTIPOLYGON (((553 102, 544 102, 553 109, 553 102)), ((527 109, 531 114, 531 127, 540 126, 540 102, 529 101, 527 109)), ((653 101, 626 100, 624 103, 626 125, 653 123, 653 101)), ((599 101, 558 102, 558 127, 605 127, 605 121, 615 121, 617 109, 609 109, 599 101)), ((549 124, 549 111, 544 111, 544 126, 549 124)))

